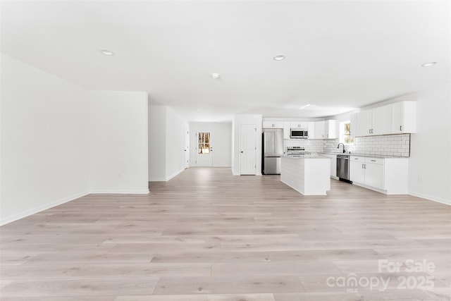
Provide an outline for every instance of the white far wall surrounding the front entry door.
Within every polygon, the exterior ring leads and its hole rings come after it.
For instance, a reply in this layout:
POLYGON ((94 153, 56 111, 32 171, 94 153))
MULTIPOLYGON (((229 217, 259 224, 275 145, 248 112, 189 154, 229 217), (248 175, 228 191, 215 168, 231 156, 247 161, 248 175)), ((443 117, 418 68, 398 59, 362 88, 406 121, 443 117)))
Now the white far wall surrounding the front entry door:
POLYGON ((213 166, 232 166, 232 123, 192 122, 190 123, 190 166, 196 166, 197 141, 195 133, 211 130, 213 166))

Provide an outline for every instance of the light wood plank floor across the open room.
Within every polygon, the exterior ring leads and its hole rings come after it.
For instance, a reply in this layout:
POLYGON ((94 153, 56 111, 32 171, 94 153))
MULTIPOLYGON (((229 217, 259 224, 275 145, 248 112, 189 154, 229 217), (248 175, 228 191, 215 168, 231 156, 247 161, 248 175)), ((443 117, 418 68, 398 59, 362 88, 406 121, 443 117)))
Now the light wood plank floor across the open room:
POLYGON ((230 168, 189 168, 150 190, 2 226, 1 300, 450 300, 444 204, 336 180, 327 197, 304 197, 230 168), (380 259, 403 264, 378 272, 380 259), (435 268, 407 272, 407 259, 435 268), (357 287, 339 285, 352 276, 357 287), (416 289, 426 276, 434 288, 416 289), (371 290, 376 278, 388 288, 371 290))

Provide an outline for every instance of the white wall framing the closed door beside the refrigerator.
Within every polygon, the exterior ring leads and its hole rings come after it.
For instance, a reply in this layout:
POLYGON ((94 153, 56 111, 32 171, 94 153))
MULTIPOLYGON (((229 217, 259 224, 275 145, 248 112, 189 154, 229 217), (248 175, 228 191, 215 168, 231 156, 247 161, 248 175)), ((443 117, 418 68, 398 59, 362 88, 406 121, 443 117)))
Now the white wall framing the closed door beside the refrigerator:
POLYGON ((240 127, 242 124, 257 125, 256 175, 261 175, 261 115, 237 114, 233 117, 232 133, 232 173, 240 175, 240 127))

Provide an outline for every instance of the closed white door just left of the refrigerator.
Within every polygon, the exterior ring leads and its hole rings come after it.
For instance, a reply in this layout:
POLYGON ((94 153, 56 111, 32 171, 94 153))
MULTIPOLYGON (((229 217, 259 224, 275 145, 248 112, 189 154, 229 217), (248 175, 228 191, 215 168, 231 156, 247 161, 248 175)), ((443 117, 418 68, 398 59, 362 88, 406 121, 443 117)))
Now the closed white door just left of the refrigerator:
POLYGON ((240 126, 240 175, 254 175, 257 169, 257 126, 240 126))

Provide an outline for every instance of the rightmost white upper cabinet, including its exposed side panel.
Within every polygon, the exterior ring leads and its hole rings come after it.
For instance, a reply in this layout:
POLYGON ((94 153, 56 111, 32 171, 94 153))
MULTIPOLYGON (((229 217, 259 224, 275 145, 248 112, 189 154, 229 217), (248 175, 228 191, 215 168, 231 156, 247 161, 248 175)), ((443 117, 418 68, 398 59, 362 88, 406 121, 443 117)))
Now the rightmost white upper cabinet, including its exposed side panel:
POLYGON ((416 102, 392 104, 392 134, 416 133, 416 102))

